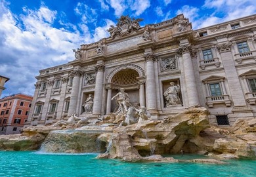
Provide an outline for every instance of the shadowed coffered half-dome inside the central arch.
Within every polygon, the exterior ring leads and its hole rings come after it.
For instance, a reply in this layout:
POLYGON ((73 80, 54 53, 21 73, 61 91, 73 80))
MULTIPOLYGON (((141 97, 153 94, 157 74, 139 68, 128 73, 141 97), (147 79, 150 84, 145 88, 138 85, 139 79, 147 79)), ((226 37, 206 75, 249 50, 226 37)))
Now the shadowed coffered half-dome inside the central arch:
POLYGON ((134 69, 123 69, 116 73, 112 78, 112 83, 119 86, 136 85, 138 83, 139 73, 134 69))

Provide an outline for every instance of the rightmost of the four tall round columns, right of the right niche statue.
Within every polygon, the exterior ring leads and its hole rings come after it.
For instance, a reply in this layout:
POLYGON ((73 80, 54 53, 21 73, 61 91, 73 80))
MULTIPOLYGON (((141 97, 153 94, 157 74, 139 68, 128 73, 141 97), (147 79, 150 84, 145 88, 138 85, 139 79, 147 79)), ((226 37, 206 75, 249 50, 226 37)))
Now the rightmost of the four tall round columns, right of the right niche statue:
POLYGON ((188 106, 195 106, 196 104, 200 104, 200 102, 198 97, 198 90, 196 88, 196 77, 194 75, 194 68, 190 51, 190 45, 182 45, 179 48, 178 53, 181 54, 183 58, 184 77, 188 95, 188 106))

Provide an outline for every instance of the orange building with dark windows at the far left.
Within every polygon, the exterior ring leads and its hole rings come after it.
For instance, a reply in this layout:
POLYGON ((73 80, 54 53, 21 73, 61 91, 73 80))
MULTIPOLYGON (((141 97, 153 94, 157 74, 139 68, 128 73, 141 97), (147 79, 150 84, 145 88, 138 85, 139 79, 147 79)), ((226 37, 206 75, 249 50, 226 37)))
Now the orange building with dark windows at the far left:
POLYGON ((0 100, 0 134, 17 134, 28 120, 32 96, 12 94, 0 100))

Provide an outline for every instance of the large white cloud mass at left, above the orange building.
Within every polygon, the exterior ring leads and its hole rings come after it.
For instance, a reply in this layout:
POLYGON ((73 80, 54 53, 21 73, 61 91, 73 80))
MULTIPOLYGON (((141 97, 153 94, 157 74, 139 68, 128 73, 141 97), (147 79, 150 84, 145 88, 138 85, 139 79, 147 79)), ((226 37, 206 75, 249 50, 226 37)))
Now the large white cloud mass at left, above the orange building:
MULTIPOLYGON (((39 69, 74 60, 72 49, 108 36, 106 29, 114 24, 111 20, 105 20, 102 27, 90 33, 86 24, 74 25, 60 19, 58 22, 65 26, 54 28, 58 16, 56 11, 43 4, 39 9, 23 10, 24 14, 16 16, 5 1, 0 2, 0 75, 11 79, 6 83, 7 89, 2 96, 17 92, 33 94, 39 69)), ((81 10, 84 9, 77 9, 77 13, 81 10)), ((92 9, 89 10, 94 13, 92 9)))

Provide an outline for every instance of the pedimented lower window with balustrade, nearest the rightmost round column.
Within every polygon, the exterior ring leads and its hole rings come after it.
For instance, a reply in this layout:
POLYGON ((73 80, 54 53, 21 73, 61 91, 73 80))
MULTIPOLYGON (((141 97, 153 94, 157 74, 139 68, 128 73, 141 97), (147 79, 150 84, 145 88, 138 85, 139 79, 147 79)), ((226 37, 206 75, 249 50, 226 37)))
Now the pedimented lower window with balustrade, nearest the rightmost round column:
POLYGON ((213 108, 216 104, 225 104, 231 106, 231 100, 226 94, 226 88, 224 85, 225 77, 212 75, 203 79, 203 84, 206 90, 206 105, 209 108, 213 108))

